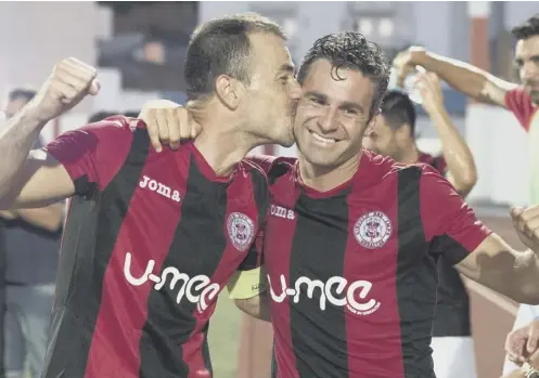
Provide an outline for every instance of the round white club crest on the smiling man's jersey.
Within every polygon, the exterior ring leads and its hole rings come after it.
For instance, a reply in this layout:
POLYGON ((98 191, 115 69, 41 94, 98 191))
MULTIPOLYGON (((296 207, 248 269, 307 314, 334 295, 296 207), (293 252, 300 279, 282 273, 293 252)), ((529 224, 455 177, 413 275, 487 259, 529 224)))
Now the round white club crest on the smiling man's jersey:
POLYGON ((383 247, 392 233, 392 221, 382 211, 371 211, 361 216, 354 226, 356 240, 369 249, 383 247))

